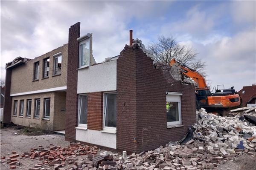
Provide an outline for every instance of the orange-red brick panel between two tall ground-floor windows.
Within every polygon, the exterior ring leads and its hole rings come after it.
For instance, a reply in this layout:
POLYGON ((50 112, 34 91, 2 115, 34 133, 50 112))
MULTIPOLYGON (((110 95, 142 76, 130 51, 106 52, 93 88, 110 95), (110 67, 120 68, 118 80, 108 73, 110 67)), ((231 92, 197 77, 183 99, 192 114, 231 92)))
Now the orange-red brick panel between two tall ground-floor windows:
POLYGON ((87 128, 102 130, 103 120, 103 92, 88 94, 87 128))

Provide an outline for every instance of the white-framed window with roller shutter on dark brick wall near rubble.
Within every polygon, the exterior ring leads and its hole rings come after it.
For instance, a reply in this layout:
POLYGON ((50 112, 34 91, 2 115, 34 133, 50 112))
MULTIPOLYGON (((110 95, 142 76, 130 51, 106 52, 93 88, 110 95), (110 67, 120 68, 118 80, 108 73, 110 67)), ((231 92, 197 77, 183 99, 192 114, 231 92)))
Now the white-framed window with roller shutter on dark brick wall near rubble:
POLYGON ((181 124, 180 95, 182 95, 182 93, 167 92, 167 95, 166 95, 167 126, 181 124))

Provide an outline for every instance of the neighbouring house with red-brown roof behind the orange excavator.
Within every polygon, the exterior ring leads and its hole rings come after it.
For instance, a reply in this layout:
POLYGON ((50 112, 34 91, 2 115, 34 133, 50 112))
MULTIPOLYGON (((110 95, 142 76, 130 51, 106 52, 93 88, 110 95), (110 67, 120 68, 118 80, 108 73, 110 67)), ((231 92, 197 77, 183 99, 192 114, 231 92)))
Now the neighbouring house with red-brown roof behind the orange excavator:
POLYGON ((242 99, 242 106, 256 107, 256 84, 243 86, 238 94, 242 99))

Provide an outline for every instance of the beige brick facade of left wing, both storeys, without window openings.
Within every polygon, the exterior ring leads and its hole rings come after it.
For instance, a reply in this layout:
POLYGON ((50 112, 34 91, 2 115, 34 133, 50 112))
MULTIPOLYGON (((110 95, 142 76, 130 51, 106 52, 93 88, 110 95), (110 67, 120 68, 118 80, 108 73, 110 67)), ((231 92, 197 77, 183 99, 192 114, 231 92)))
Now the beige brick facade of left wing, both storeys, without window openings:
POLYGON ((68 44, 65 44, 40 57, 12 68, 10 94, 12 96, 11 121, 14 124, 54 131, 65 129, 66 89, 61 89, 62 91, 49 91, 49 89, 67 86, 67 48, 68 44), (53 75, 55 54, 61 54, 61 74, 59 75, 53 75), (49 58, 49 76, 47 78, 43 78, 45 58, 49 58), (40 67, 38 80, 34 81, 34 63, 38 61, 40 67), (38 90, 42 91, 40 93, 34 92, 38 90), (23 94, 20 95, 18 93, 23 94), (49 118, 44 118, 46 98, 50 98, 49 118), (35 117, 36 99, 40 99, 39 117, 35 117), (15 100, 17 100, 17 115, 14 115, 15 100), (19 115, 21 100, 24 100, 23 116, 19 115), (26 115, 28 100, 32 100, 31 116, 26 115))

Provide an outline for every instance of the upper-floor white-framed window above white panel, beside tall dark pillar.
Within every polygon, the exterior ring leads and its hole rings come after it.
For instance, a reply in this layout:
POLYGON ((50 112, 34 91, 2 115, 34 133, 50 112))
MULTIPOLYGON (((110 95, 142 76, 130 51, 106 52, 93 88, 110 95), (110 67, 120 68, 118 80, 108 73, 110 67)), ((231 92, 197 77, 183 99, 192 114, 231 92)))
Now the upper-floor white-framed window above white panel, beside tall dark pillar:
POLYGON ((79 67, 89 66, 90 63, 90 38, 80 42, 79 67))

